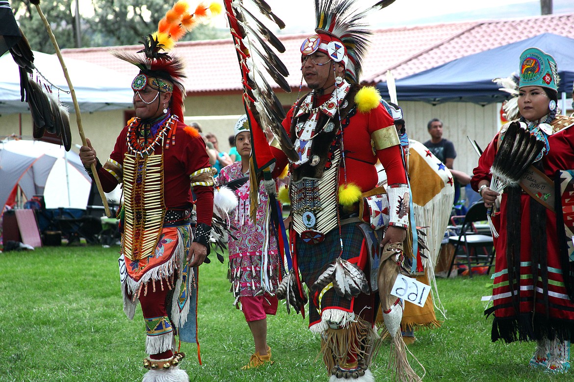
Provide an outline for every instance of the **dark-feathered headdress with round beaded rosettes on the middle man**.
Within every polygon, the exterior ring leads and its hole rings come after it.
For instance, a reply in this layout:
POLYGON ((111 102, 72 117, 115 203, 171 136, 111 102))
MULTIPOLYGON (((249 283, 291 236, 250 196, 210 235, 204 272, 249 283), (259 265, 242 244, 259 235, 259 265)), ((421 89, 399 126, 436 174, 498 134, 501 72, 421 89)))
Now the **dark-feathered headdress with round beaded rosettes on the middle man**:
POLYGON ((320 50, 333 61, 343 62, 346 80, 356 84, 372 34, 363 19, 371 11, 383 9, 394 1, 381 0, 358 11, 353 7, 354 0, 315 0, 316 34, 303 42, 301 54, 307 56, 320 50))

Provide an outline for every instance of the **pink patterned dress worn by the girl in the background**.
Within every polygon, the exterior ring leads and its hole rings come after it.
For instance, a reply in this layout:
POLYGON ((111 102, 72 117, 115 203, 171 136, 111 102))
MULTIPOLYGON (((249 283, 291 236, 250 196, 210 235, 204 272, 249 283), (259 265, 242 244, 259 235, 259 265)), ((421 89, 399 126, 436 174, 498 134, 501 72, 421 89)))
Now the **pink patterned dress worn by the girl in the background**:
MULTIPOLYGON (((243 176, 246 174, 241 171, 241 162, 235 162, 222 168, 218 183, 222 185, 243 176)), ((279 279, 280 259, 274 231, 271 227, 263 229, 266 220, 265 211, 269 203, 263 184, 259 187, 256 223, 249 218, 249 181, 235 190, 235 194, 238 196, 239 204, 229 218, 231 225, 235 227, 232 234, 237 240, 230 238, 228 243, 227 278, 232 284, 230 292, 234 293, 236 304, 239 297, 275 292, 279 279)))

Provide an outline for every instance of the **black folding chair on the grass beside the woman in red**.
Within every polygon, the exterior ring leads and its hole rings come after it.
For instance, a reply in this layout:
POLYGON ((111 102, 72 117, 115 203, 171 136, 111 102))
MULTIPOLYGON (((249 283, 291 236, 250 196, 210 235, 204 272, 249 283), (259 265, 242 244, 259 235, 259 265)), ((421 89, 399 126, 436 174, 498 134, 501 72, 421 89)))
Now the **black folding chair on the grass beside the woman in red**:
MULTIPOLYGON (((456 218, 463 218, 463 216, 452 216, 451 220, 454 225, 456 225, 456 218)), ((472 277, 472 268, 476 267, 487 266, 487 274, 490 273, 490 268, 493 266, 492 262, 494 262, 494 242, 492 236, 479 234, 475 225, 476 222, 484 222, 485 220, 486 207, 484 207, 484 202, 480 200, 468 208, 460 226, 459 235, 449 237, 449 243, 455 246, 455 255, 452 257, 448 277, 455 265, 468 266, 470 277, 472 277), (460 249, 464 251, 461 253, 460 249)))

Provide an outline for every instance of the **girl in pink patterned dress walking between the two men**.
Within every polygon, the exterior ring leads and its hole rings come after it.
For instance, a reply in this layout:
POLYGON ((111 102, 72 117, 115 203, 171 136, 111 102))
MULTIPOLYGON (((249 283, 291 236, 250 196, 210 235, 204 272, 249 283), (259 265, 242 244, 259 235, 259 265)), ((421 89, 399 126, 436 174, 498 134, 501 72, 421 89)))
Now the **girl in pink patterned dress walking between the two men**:
POLYGON ((266 219, 269 196, 261 184, 257 219, 249 217, 249 156, 251 142, 247 116, 235 124, 235 144, 241 161, 222 168, 218 183, 229 184, 238 198, 238 206, 230 213, 230 238, 228 279, 235 296, 235 305, 243 310, 253 340, 255 353, 242 369, 272 364, 271 349, 267 346, 267 314, 277 312, 277 289, 280 274, 275 235, 266 219), (231 182, 231 183, 230 183, 231 182))

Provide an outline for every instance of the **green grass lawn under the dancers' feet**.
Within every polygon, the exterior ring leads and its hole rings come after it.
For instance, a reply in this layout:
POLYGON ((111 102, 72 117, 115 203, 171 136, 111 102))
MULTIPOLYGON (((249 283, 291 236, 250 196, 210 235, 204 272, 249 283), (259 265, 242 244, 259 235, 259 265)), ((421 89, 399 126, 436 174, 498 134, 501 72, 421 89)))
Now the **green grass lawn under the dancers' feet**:
MULTIPOLYGON (((0 381, 141 381, 144 322, 122 312, 119 247, 49 247, 0 254, 0 381)), ((240 371, 253 343, 243 314, 232 306, 227 266, 212 259, 200 267, 199 340, 182 344, 183 368, 191 381, 327 381, 319 337, 300 315, 280 306, 270 317, 268 342, 275 363, 240 371)), ((410 351, 426 369, 425 381, 572 381, 526 365, 534 343, 490 341, 491 318, 484 318, 489 294, 486 276, 439 279, 448 320, 442 328, 417 333, 410 351)), ((377 381, 391 380, 388 343, 374 361, 377 381)), ((411 360, 422 375, 422 368, 411 360)))

